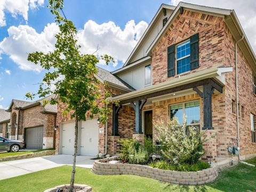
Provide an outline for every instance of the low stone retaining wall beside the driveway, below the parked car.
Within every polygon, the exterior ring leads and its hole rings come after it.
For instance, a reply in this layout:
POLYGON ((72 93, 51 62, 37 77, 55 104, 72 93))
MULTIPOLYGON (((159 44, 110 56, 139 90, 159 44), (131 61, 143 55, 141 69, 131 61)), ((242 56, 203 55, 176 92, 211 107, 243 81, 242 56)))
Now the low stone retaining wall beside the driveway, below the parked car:
POLYGON ((55 155, 55 150, 44 150, 44 151, 29 153, 29 154, 24 154, 24 155, 4 157, 4 158, 0 158, 0 162, 1 161, 13 161, 13 160, 18 160, 18 159, 33 158, 33 157, 43 157, 43 156, 48 156, 48 155, 55 155))

